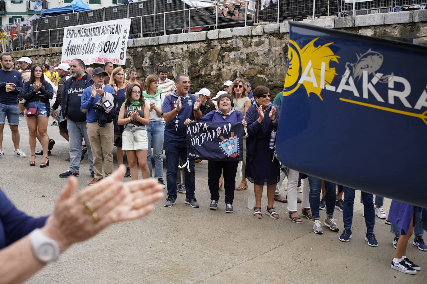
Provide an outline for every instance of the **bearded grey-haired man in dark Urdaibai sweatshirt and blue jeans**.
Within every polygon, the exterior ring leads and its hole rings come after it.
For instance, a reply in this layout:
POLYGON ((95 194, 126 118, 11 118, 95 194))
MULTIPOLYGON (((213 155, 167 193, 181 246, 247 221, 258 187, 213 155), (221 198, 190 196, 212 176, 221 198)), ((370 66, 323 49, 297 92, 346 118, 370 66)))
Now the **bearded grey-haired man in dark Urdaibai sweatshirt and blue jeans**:
POLYGON ((82 157, 82 139, 88 149, 89 171, 95 176, 92 165, 92 150, 86 129, 86 113, 80 111, 83 90, 94 84, 91 76, 85 72, 85 63, 78 58, 70 62, 70 74, 61 94, 61 115, 67 119, 67 130, 70 139, 70 166, 59 176, 67 178, 70 175, 79 176, 80 160, 82 157))

